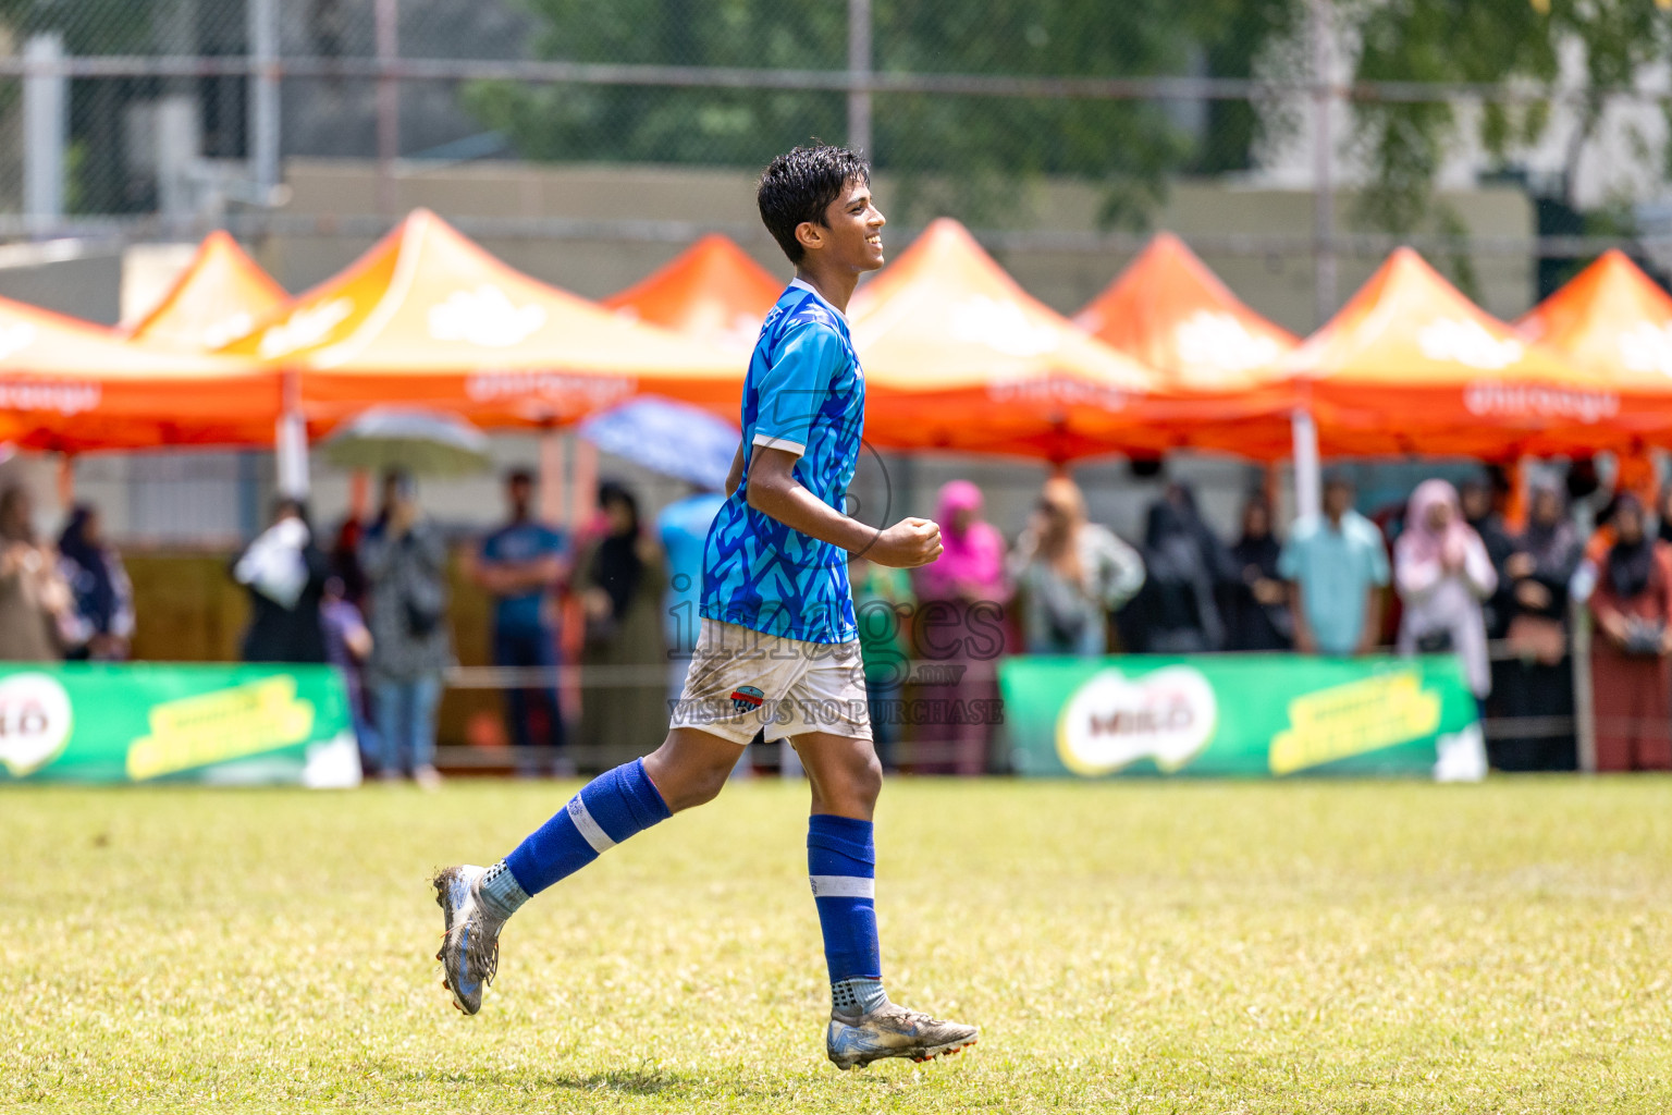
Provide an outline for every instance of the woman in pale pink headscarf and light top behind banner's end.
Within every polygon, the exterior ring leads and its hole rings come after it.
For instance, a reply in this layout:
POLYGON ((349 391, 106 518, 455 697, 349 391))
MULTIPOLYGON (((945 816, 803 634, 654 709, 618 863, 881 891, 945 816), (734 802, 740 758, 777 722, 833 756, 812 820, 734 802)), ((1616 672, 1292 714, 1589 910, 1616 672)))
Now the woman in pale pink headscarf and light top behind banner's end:
POLYGON ((1445 480, 1425 480, 1411 493, 1404 533, 1393 547, 1393 582, 1404 603, 1399 654, 1456 654, 1470 689, 1485 700, 1491 664, 1481 602, 1498 587, 1498 572, 1445 480))

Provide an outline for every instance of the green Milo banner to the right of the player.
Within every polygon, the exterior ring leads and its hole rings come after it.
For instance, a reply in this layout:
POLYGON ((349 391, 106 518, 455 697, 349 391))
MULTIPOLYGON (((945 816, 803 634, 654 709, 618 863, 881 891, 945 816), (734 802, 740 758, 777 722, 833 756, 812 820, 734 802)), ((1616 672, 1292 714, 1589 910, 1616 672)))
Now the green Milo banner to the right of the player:
POLYGON ((1020 774, 1287 777, 1486 772, 1451 655, 1012 659, 998 667, 1020 774))

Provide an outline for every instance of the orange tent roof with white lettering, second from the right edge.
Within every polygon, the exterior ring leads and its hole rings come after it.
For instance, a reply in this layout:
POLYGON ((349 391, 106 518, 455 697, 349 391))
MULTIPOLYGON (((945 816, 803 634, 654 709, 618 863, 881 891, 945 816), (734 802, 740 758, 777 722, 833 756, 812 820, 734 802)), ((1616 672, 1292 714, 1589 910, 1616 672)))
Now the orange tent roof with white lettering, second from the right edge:
POLYGON ((1328 453, 1498 456, 1592 448, 1620 396, 1399 247, 1272 371, 1311 393, 1328 453))

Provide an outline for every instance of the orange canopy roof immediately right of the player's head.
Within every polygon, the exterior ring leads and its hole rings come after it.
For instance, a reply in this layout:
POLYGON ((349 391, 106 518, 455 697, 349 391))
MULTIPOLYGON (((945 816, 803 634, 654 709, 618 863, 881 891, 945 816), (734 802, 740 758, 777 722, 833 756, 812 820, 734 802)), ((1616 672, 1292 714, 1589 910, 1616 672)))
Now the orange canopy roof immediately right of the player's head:
POLYGON ((1169 443, 1155 373, 1032 298, 956 221, 925 229, 851 311, 876 445, 1063 461, 1169 443))

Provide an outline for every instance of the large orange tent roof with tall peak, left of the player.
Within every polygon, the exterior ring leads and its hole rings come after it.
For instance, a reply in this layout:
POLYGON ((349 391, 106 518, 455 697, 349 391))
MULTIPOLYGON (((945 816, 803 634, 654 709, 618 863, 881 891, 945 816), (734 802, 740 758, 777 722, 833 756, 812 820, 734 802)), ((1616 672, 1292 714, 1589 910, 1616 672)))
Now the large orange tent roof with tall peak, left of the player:
POLYGON ((640 391, 726 410, 744 373, 736 354, 508 267, 426 209, 224 351, 298 373, 316 431, 391 401, 490 426, 568 421, 640 391))

